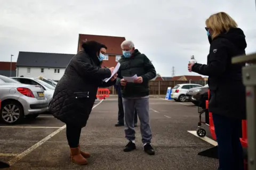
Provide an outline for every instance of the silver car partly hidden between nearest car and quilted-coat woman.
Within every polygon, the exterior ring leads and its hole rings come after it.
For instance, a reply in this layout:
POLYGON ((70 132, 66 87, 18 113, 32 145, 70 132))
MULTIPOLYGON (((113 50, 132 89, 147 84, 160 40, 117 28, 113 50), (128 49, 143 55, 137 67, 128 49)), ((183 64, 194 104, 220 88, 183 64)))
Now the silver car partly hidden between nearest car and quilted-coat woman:
POLYGON ((30 78, 30 77, 11 77, 11 78, 23 84, 42 86, 44 88, 44 93, 48 101, 48 105, 50 105, 55 87, 38 78, 30 78))

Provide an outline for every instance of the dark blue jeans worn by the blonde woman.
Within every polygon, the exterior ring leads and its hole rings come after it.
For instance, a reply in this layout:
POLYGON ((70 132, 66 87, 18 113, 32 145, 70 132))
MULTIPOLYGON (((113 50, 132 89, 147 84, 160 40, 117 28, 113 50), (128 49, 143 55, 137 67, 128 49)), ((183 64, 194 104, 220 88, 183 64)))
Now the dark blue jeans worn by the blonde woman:
POLYGON ((243 148, 240 142, 242 120, 212 114, 218 142, 219 169, 244 170, 243 148))

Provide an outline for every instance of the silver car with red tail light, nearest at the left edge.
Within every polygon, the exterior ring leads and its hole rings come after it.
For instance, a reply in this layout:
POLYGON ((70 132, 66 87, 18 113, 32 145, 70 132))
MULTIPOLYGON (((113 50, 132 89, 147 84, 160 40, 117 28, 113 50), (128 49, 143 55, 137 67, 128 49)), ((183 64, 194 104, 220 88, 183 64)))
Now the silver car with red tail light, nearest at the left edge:
POLYGON ((24 117, 36 118, 48 107, 41 86, 21 84, 1 75, 0 100, 0 120, 5 124, 21 122, 24 117))

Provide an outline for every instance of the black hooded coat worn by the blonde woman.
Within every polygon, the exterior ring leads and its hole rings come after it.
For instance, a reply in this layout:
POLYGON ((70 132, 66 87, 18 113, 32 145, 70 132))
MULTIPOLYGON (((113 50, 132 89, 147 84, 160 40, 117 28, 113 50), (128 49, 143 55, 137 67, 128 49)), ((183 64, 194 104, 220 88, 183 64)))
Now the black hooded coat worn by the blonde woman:
POLYGON ((242 67, 232 64, 231 58, 245 54, 245 35, 239 28, 215 37, 207 56, 207 65, 194 64, 192 71, 209 76, 211 91, 209 111, 231 118, 246 118, 245 86, 242 81, 242 67))

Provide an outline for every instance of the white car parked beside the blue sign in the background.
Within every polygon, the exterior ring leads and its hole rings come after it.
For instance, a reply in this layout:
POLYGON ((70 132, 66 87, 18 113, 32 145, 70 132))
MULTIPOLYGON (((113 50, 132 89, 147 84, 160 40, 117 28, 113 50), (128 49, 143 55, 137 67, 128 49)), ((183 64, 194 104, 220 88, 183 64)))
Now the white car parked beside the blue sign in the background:
POLYGON ((195 87, 203 86, 199 84, 177 84, 172 88, 171 98, 175 101, 185 102, 187 92, 195 87))

